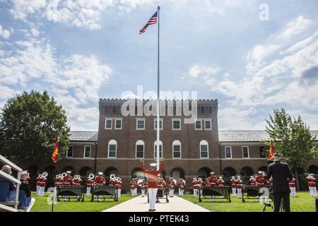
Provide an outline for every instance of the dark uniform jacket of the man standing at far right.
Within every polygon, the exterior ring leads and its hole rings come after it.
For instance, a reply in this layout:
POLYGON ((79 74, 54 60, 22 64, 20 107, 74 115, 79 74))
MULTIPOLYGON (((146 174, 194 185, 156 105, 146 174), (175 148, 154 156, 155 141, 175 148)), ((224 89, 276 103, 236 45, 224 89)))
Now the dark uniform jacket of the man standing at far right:
POLYGON ((293 178, 286 163, 277 161, 269 165, 266 179, 273 177, 273 193, 290 192, 288 178, 293 178))

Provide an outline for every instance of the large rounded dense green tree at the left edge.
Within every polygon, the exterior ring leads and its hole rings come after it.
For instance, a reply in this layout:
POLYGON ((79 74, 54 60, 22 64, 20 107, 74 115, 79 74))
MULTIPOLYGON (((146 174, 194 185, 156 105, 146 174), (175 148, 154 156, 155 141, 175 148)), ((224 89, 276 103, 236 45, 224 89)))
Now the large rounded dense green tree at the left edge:
POLYGON ((9 99, 0 113, 0 153, 18 162, 49 162, 59 138, 59 160, 69 145, 69 127, 61 105, 47 91, 9 99))

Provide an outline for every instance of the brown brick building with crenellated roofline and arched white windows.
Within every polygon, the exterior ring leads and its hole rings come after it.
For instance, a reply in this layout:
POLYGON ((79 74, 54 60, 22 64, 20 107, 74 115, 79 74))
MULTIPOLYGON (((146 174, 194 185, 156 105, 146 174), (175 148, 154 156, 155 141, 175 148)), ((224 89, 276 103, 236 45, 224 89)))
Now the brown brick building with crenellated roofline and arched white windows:
MULTIPOLYGON (((100 99, 98 131, 71 131, 71 144, 57 172, 71 170, 83 176, 90 172, 114 173, 128 188, 131 176, 143 177, 141 158, 146 165, 155 161, 156 117, 122 114, 125 100, 100 99)), ((147 105, 143 100, 143 107, 147 105)), ((180 101, 181 102, 181 101, 180 101)), ((218 131, 218 100, 198 100, 194 124, 185 124, 178 101, 160 102, 160 155, 165 158, 163 177, 183 177, 187 184, 209 172, 252 175, 266 170, 268 141, 265 131, 218 131), (164 105, 165 104, 165 105, 164 105), (170 112, 172 115, 167 115, 170 112)), ((183 102, 182 102, 183 103, 183 102)), ((191 103, 191 102, 190 102, 191 103)), ((189 107, 191 109, 191 107, 189 107)), ((135 113, 140 113, 136 107, 135 113)), ((312 131, 318 135, 318 131, 312 131)), ((318 144, 318 141, 316 141, 318 144)), ((25 165, 31 174, 47 171, 54 165, 25 165)), ((309 162, 302 172, 318 173, 318 160, 309 162)))

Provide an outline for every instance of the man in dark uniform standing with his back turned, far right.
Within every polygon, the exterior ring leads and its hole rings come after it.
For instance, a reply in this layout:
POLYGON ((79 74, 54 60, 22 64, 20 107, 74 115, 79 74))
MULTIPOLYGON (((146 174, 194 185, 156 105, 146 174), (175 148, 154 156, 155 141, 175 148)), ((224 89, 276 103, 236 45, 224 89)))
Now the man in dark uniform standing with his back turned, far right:
POLYGON ((273 163, 269 165, 269 171, 265 179, 273 177, 273 203, 274 212, 279 212, 283 198, 285 212, 290 212, 290 189, 288 179, 293 178, 286 163, 281 162, 278 154, 273 155, 273 163))

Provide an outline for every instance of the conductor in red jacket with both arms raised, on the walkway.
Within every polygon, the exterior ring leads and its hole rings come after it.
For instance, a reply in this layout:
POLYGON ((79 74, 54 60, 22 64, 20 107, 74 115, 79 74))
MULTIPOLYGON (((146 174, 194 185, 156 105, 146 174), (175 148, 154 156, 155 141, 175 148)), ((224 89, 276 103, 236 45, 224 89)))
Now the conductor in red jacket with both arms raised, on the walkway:
POLYGON ((163 158, 160 160, 160 167, 158 170, 155 169, 157 165, 151 163, 151 169, 146 169, 145 163, 141 160, 141 170, 146 173, 148 177, 148 195, 149 195, 149 211, 155 211, 155 201, 157 197, 158 184, 157 184, 157 175, 163 171, 163 158))

